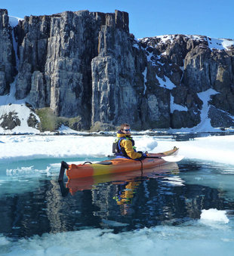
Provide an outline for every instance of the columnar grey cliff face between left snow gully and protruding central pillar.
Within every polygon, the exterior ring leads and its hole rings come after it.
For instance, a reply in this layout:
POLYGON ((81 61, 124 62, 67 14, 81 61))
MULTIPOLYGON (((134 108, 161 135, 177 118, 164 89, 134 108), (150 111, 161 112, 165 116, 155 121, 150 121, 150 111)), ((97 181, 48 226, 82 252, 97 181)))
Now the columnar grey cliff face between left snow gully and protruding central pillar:
POLYGON ((80 116, 82 128, 90 128, 91 61, 98 48, 103 51, 99 46, 103 26, 114 26, 112 33, 128 31, 128 14, 67 11, 20 22, 16 29, 20 50, 17 99, 29 95, 35 108, 49 106, 57 116, 80 116))

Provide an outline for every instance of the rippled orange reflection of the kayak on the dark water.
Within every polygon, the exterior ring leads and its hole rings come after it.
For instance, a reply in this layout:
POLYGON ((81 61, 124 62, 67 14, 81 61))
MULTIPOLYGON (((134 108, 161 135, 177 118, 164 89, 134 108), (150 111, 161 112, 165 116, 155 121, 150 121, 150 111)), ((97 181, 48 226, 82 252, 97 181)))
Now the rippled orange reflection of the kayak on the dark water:
POLYGON ((66 183, 66 188, 69 193, 74 195, 80 190, 95 189, 98 184, 111 182, 112 184, 125 184, 126 182, 136 181, 137 177, 155 178, 161 177, 160 174, 178 174, 179 168, 176 162, 170 162, 168 165, 155 166, 144 170, 127 171, 117 174, 97 175, 91 177, 82 177, 79 179, 72 179, 66 183), (157 174, 157 175, 155 175, 157 174))

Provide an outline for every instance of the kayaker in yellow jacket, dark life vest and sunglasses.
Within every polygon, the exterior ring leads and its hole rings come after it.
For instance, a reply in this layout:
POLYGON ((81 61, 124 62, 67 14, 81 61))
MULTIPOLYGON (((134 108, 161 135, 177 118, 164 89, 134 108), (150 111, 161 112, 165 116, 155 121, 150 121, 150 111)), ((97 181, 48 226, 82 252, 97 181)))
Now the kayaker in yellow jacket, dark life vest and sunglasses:
POLYGON ((113 153, 115 153, 115 156, 126 157, 129 159, 144 159, 146 154, 143 152, 137 152, 134 144, 134 140, 131 137, 130 125, 127 123, 122 124, 117 132, 117 139, 113 143, 113 153))

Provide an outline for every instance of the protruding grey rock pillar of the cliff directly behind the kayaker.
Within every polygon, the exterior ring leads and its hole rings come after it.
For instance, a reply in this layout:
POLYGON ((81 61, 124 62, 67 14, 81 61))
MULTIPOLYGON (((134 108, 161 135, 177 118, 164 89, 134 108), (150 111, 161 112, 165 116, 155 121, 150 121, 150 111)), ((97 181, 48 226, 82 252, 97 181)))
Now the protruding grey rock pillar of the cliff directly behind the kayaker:
MULTIPOLYGON (((119 15, 118 12, 115 13, 115 16, 119 15)), ((139 94, 143 92, 143 70, 140 72, 134 65, 135 56, 128 29, 112 24, 115 24, 114 20, 110 22, 111 26, 102 26, 99 33, 99 54, 91 62, 91 121, 92 124, 100 121, 112 125, 128 121, 140 128, 139 94), (139 83, 137 79, 142 81, 139 83)))

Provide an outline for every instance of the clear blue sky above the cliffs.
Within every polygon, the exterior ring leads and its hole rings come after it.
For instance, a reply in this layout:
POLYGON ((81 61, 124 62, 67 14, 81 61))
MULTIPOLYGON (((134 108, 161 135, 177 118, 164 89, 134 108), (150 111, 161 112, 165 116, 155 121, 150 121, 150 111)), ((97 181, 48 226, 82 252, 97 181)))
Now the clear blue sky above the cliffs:
POLYGON ((62 11, 127 11, 137 39, 168 34, 234 39, 233 0, 3 0, 0 8, 22 18, 62 11))

